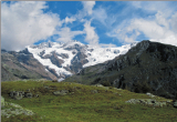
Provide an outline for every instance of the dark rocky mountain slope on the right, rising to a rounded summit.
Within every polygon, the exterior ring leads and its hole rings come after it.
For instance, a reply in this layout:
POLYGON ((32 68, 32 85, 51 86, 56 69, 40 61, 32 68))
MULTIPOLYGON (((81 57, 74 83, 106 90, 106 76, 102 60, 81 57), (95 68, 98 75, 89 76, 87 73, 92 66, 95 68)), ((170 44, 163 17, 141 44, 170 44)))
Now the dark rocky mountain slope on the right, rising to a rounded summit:
POLYGON ((177 98, 177 47, 142 41, 126 54, 85 68, 66 81, 102 83, 174 99, 177 98))

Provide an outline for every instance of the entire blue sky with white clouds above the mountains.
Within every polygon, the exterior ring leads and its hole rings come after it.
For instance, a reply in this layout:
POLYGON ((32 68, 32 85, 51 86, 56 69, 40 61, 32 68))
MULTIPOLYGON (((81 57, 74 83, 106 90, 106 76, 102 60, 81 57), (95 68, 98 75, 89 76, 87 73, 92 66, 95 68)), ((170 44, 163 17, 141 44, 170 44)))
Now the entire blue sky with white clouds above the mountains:
POLYGON ((177 45, 177 1, 1 2, 1 49, 72 40, 95 47, 143 40, 177 45))

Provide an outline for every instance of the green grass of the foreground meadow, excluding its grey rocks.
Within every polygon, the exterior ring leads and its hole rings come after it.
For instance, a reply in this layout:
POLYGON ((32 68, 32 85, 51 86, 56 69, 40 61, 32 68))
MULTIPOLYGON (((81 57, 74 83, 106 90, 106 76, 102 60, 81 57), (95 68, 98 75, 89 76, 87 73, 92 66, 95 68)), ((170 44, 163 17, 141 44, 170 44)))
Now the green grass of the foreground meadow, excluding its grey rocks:
MULTIPOLYGON (((18 115, 4 118, 2 122, 175 122, 177 121, 177 109, 170 104, 164 108, 152 108, 140 104, 128 104, 129 99, 149 99, 146 94, 133 93, 127 90, 83 85, 70 82, 54 83, 51 81, 17 81, 1 82, 1 95, 6 101, 20 104, 32 110, 35 115, 18 115), (45 90, 44 87, 55 87, 55 90, 45 90), (8 93, 25 91, 30 89, 39 98, 23 98, 13 100, 8 93), (70 90, 66 95, 54 95, 58 90, 70 90), (97 93, 91 91, 97 90, 97 93)), ((166 99, 156 98, 159 101, 166 99)))

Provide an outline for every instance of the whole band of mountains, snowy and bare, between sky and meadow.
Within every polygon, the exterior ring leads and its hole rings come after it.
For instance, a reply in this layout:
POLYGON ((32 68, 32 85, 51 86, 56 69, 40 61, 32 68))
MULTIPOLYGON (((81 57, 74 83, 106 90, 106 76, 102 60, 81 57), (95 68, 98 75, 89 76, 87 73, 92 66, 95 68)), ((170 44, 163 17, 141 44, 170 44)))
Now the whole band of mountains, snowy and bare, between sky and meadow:
POLYGON ((119 48, 43 42, 1 50, 1 80, 48 79, 177 98, 177 47, 144 40, 119 48))

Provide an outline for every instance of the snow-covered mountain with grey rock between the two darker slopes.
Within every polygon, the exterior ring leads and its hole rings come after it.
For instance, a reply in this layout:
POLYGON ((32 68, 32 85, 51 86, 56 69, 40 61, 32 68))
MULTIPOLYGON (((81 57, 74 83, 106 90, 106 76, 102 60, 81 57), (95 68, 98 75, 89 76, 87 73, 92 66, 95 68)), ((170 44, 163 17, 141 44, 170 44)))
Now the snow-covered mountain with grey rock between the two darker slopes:
POLYGON ((126 53, 137 42, 117 48, 102 48, 83 44, 79 41, 67 43, 42 42, 27 47, 28 51, 45 67, 45 71, 58 79, 76 74, 81 69, 112 60, 126 53))

